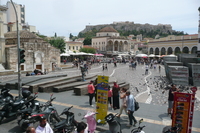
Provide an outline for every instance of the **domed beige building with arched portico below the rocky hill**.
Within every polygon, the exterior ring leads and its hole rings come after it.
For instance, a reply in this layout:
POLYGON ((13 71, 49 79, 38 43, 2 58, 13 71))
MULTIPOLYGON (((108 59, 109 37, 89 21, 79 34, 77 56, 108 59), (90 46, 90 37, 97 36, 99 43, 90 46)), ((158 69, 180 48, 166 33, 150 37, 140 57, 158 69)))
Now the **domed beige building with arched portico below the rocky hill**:
POLYGON ((102 54, 119 54, 134 51, 135 47, 131 46, 133 42, 125 37, 121 37, 119 32, 112 27, 105 27, 96 33, 92 38, 92 47, 102 54))

